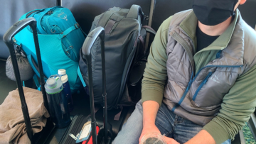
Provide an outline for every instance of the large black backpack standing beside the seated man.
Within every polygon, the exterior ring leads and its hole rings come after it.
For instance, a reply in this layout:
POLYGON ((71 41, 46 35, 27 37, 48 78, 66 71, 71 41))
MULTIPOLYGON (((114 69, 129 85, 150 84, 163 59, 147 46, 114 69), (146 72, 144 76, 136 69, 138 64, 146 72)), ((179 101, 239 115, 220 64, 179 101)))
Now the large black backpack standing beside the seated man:
MULTIPOLYGON (((156 32, 144 21, 142 8, 132 5, 131 9, 114 7, 96 16, 92 28, 105 28, 105 67, 107 82, 107 109, 131 106, 141 99, 141 79, 149 50, 145 48, 146 33, 156 32)), ((102 104, 102 61, 100 38, 92 46, 92 81, 95 104, 102 104)), ((89 85, 87 65, 82 58, 78 74, 85 86, 89 85)), ((87 87, 85 87, 86 89, 87 87)))

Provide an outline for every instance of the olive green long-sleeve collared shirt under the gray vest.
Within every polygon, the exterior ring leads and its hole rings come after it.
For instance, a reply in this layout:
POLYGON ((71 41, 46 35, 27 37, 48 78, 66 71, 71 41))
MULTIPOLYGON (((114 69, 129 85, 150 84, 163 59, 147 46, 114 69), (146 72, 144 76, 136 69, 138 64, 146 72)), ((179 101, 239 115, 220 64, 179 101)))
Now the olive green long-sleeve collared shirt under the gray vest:
MULTIPOLYGON (((151 100, 161 105, 163 100, 164 87, 168 79, 166 44, 170 21, 171 17, 161 24, 151 45, 148 62, 144 71, 144 79, 142 80, 142 102, 151 100)), ((234 18, 233 23, 217 40, 193 56, 196 72, 210 62, 210 60, 214 60, 216 53, 228 45, 236 21, 237 17, 234 18)), ((191 18, 186 18, 180 26, 186 27, 186 25, 190 27, 190 31, 186 32, 190 33, 193 41, 196 42, 196 16, 192 14, 191 18)), ((213 136, 216 143, 223 143, 225 140, 233 139, 235 134, 242 129, 242 126, 245 126, 245 122, 250 119, 250 114, 255 111, 255 76, 256 66, 252 67, 245 74, 240 75, 228 94, 224 96, 218 116, 203 127, 204 130, 213 136)))

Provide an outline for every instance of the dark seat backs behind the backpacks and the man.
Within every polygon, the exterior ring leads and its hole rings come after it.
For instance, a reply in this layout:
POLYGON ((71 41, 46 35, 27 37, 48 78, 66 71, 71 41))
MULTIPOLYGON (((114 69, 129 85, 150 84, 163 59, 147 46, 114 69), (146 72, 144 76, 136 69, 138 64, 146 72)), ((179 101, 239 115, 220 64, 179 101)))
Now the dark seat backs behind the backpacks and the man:
MULTIPOLYGON (((70 9, 82 30, 88 33, 95 16, 113 6, 129 9, 132 4, 138 4, 142 6, 144 14, 149 16, 151 0, 0 0, 0 58, 6 59, 9 56, 9 50, 2 38, 13 23, 28 11, 53 7, 57 4, 62 4, 62 6, 70 9)), ((157 31, 166 18, 179 11, 191 8, 192 0, 155 0, 151 26, 157 31)), ((238 9, 242 13, 242 18, 252 28, 255 28, 256 0, 247 0, 238 9)), ((148 21, 145 21, 144 24, 148 24, 148 21)), ((152 40, 153 38, 150 39, 150 41, 152 40)))

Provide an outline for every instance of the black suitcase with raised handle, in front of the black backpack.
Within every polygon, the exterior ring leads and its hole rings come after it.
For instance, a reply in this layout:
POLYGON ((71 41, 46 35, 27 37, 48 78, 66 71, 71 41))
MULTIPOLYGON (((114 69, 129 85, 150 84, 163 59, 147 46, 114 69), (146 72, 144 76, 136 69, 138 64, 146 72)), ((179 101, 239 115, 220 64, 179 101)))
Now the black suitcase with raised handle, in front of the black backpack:
MULTIPOLYGON (((88 75, 89 75, 89 91, 90 91, 90 116, 75 116, 73 121, 71 122, 68 129, 65 131, 63 138, 60 140, 60 144, 75 144, 75 139, 71 138, 70 134, 74 136, 78 134, 82 126, 88 121, 88 118, 91 118, 91 126, 92 126, 92 143, 111 143, 112 142, 112 126, 110 123, 107 123, 107 93, 106 93, 106 75, 105 75, 105 31, 104 28, 98 27, 91 31, 85 42, 82 45, 82 49, 80 51, 80 55, 82 56, 82 60, 87 63, 88 65, 88 75), (92 56, 91 56, 91 49, 93 43, 100 37, 101 40, 101 56, 102 56, 102 99, 104 103, 103 107, 103 128, 100 126, 100 131, 96 133, 96 119, 95 119, 95 104, 94 104, 94 96, 93 96, 93 84, 92 84, 92 56)), ((80 56, 80 57, 81 57, 80 56)), ((90 138, 88 138, 89 140, 90 138)))

